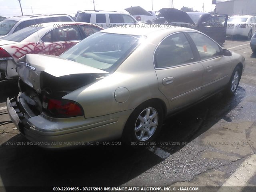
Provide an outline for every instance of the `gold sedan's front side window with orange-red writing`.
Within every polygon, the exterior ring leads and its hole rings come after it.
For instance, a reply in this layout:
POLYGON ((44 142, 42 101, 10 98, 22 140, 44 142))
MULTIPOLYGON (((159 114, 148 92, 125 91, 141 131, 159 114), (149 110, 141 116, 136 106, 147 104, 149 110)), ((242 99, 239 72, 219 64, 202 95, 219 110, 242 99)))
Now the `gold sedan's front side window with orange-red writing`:
POLYGON ((196 44, 196 48, 202 60, 220 55, 221 50, 218 44, 207 36, 196 32, 188 32, 188 34, 196 44))

